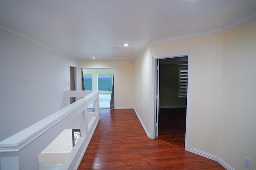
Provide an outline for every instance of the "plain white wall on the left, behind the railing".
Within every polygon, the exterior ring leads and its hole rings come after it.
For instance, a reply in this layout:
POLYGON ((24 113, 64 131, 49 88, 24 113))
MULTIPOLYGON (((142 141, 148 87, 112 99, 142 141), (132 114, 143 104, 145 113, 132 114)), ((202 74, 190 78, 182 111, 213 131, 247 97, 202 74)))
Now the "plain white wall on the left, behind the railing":
POLYGON ((1 140, 58 111, 77 62, 1 29, 1 140))

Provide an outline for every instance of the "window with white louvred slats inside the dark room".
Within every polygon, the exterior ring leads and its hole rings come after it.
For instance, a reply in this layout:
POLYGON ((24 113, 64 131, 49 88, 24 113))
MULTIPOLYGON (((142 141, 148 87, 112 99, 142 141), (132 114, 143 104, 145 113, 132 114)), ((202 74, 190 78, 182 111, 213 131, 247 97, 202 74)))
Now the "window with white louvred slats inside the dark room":
POLYGON ((179 68, 178 97, 187 97, 188 93, 188 68, 179 68))

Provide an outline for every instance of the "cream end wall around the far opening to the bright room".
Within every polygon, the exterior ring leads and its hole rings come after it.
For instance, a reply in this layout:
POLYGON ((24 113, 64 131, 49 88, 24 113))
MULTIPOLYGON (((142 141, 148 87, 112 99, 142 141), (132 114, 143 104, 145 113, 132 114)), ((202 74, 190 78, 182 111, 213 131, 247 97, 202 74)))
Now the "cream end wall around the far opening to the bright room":
MULTIPOLYGON (((81 68, 115 68, 116 75, 116 103, 115 109, 134 107, 134 63, 132 62, 82 62, 78 63, 79 77, 81 68)), ((79 78, 79 89, 81 79, 79 78)))

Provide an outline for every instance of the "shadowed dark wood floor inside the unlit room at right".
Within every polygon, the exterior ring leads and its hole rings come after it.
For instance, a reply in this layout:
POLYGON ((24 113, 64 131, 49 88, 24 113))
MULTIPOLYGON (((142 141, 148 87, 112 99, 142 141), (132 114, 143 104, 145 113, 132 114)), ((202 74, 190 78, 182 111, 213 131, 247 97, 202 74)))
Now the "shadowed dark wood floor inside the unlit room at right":
POLYGON ((158 114, 158 140, 185 148, 186 107, 161 108, 158 114))

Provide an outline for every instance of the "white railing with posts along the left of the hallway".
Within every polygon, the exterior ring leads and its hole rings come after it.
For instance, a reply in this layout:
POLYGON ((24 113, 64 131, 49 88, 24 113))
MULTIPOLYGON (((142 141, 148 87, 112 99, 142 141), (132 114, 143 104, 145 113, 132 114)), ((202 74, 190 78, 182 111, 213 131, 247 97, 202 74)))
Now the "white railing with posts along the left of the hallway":
POLYGON ((66 107, 0 142, 2 170, 39 169, 40 152, 79 117, 80 138, 60 169, 78 168, 100 120, 99 91, 65 91, 63 97, 66 107), (68 105, 70 97, 81 99, 68 105), (94 112, 88 112, 87 108, 93 102, 94 112))

